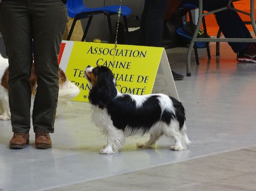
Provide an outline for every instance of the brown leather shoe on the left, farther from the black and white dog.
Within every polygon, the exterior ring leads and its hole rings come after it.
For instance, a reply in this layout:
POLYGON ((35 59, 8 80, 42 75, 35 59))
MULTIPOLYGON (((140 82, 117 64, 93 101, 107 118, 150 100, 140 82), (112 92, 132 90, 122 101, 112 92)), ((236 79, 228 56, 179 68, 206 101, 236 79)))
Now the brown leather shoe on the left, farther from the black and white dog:
POLYGON ((21 149, 25 148, 29 144, 29 134, 28 133, 14 133, 13 138, 11 138, 9 143, 9 148, 11 149, 21 149))

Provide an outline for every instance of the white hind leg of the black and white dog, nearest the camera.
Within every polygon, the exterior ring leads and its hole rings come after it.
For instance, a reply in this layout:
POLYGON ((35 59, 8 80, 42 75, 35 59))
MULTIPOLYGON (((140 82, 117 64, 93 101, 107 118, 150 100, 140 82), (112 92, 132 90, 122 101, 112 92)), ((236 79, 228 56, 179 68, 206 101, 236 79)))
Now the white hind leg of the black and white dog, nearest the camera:
POLYGON ((171 124, 169 126, 166 125, 163 128, 163 132, 167 137, 175 139, 175 145, 171 146, 170 148, 176 151, 181 151, 186 149, 186 147, 184 147, 181 144, 181 133, 179 128, 180 128, 179 123, 176 120, 171 120, 171 124))

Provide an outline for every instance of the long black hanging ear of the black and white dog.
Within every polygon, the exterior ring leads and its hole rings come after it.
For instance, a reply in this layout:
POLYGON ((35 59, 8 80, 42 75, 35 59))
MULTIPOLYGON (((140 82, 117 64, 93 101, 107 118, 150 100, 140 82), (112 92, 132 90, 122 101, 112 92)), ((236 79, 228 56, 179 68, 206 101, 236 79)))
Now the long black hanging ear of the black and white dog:
POLYGON ((115 86, 113 73, 108 68, 108 70, 100 73, 96 84, 92 86, 88 97, 89 102, 100 109, 106 108, 110 100, 117 95, 115 86))

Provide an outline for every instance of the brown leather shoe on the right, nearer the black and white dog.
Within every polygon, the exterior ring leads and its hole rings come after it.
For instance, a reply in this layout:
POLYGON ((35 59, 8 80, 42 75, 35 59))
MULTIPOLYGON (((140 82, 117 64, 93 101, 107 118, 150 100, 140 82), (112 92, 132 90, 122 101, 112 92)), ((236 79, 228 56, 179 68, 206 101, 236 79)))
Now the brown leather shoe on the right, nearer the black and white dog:
POLYGON ((47 149, 52 147, 52 140, 49 133, 39 132, 36 133, 36 148, 47 149))

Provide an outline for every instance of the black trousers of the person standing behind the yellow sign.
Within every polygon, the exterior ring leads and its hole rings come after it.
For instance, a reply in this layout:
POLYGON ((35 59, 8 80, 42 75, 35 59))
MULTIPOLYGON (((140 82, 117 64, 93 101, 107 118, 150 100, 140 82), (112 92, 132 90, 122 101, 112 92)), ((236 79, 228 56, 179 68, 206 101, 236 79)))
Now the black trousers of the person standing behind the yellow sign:
POLYGON ((140 23, 140 45, 162 46, 163 18, 169 0, 145 0, 140 23))

